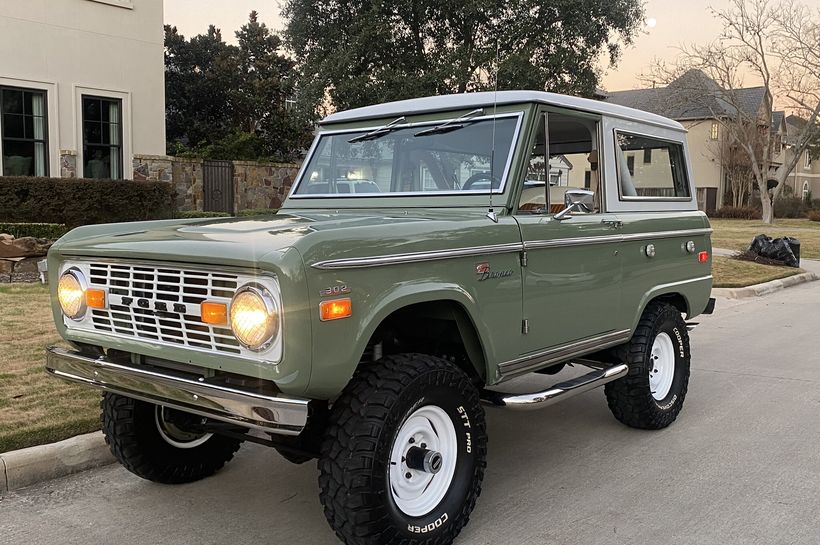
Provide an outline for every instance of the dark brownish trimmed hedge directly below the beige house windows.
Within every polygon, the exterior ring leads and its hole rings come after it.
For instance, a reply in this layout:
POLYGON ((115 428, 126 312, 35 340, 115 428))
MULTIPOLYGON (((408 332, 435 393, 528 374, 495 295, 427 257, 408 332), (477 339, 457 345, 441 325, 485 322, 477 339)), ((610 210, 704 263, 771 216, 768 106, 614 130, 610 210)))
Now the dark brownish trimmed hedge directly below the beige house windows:
POLYGON ((166 182, 0 177, 0 219, 71 227, 174 217, 166 182))

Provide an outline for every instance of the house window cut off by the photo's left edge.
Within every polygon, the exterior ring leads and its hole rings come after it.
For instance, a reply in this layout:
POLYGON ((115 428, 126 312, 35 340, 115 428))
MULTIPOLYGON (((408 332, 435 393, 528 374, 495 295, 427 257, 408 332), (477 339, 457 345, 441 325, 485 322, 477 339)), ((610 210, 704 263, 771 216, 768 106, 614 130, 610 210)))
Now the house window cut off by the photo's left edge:
POLYGON ((3 176, 48 176, 46 93, 0 87, 3 176))

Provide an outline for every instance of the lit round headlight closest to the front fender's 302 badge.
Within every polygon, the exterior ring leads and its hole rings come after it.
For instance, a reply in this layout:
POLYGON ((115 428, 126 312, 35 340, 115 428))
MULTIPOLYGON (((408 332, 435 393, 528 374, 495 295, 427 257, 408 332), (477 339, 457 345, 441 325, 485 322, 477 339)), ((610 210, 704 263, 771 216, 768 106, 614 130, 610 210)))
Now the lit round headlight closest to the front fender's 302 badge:
POLYGON ((270 345, 279 332, 279 312, 268 290, 243 286, 231 301, 231 330, 237 340, 251 350, 270 345))

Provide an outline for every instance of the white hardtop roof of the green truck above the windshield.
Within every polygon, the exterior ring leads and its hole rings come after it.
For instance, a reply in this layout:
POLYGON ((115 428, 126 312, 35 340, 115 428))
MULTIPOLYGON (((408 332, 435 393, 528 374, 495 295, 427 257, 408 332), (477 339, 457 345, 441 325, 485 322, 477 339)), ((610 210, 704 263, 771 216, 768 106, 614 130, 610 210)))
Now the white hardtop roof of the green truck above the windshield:
MULTIPOLYGON (((457 95, 441 95, 424 98, 387 102, 353 110, 345 110, 330 114, 321 121, 322 125, 330 123, 344 123, 366 119, 379 119, 391 116, 416 115, 447 110, 465 110, 468 108, 487 108, 493 104, 527 104, 537 103, 549 106, 558 106, 572 110, 592 112, 603 116, 619 117, 639 123, 648 123, 672 130, 685 131, 683 125, 666 117, 636 110, 626 106, 619 106, 609 102, 579 98, 543 91, 492 91, 482 93, 462 93, 457 95)), ((490 114, 491 112, 487 112, 490 114)))

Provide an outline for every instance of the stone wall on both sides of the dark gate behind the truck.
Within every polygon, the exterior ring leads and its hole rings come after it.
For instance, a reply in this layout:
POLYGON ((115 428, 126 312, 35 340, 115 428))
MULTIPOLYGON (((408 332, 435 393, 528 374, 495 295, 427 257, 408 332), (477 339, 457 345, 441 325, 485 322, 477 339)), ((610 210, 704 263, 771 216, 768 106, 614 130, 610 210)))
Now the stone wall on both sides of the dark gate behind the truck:
MULTIPOLYGON (((203 160, 160 155, 134 157, 134 180, 173 183, 177 209, 203 210, 203 160)), ((279 208, 287 197, 299 165, 233 161, 234 212, 249 208, 279 208)))

